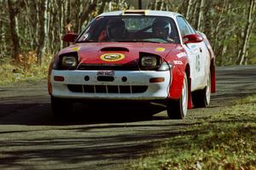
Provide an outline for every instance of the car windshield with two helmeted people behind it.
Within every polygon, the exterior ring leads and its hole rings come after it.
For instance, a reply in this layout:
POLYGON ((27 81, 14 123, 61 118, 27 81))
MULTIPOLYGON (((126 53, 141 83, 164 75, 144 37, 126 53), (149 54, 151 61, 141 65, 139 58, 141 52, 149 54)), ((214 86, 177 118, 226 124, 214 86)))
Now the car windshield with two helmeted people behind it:
POLYGON ((159 16, 105 16, 93 20, 78 42, 180 43, 175 22, 159 16))

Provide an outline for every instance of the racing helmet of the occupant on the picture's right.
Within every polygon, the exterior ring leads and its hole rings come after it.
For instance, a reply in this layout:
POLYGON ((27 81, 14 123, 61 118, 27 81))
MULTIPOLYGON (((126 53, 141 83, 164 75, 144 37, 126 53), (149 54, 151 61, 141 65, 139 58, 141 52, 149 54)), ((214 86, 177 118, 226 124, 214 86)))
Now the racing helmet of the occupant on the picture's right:
POLYGON ((172 31, 172 26, 168 20, 155 19, 152 24, 152 31, 157 37, 169 37, 172 31))

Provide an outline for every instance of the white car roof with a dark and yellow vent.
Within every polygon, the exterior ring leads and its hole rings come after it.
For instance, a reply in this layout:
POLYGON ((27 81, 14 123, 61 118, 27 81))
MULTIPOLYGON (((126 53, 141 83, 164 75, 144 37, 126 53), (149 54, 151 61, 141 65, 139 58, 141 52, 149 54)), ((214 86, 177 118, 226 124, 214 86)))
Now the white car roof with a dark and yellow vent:
POLYGON ((160 10, 143 10, 143 9, 136 9, 136 10, 123 10, 123 11, 113 11, 108 13, 100 14, 98 17, 101 16, 117 16, 117 15, 145 15, 145 16, 166 16, 175 18, 177 15, 181 15, 178 13, 170 12, 170 11, 160 11, 160 10))

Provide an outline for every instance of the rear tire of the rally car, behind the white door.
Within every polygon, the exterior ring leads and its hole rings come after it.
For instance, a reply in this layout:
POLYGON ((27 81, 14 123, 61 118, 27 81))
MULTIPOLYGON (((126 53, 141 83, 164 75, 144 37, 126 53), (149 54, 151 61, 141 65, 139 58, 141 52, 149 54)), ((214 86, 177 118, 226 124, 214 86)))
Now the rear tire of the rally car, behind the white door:
POLYGON ((211 100, 211 73, 207 76, 207 86, 202 90, 197 90, 192 93, 192 101, 195 108, 207 107, 211 100))

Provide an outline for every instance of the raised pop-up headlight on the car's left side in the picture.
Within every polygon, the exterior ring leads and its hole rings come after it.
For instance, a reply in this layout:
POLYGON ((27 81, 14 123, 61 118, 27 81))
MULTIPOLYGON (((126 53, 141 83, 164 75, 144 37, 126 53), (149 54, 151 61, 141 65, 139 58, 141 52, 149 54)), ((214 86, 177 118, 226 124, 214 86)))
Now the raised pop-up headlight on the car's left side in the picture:
POLYGON ((74 70, 78 65, 76 55, 64 55, 61 57, 61 69, 74 70))

